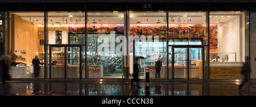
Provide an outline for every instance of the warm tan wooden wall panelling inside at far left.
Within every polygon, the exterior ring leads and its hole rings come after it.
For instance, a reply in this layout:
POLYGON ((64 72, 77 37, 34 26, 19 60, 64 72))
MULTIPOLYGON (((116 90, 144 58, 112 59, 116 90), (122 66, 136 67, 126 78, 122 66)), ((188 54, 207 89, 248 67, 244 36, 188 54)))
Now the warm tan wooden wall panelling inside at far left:
POLYGON ((38 26, 33 25, 27 20, 23 20, 20 16, 12 14, 10 23, 10 50, 26 50, 26 60, 28 65, 32 63, 38 51, 38 26), (14 41, 14 42, 12 42, 14 41))

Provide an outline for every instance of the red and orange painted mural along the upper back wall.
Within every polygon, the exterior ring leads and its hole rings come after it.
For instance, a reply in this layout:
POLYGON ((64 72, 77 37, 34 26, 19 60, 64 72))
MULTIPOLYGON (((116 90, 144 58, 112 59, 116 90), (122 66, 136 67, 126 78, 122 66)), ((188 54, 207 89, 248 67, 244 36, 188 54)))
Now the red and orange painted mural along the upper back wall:
MULTIPOLYGON (((159 36, 166 38, 166 24, 130 24, 129 36, 159 36)), ((204 24, 170 24, 168 25, 169 38, 203 38, 203 44, 206 44, 206 26, 204 24)), ((84 24, 69 25, 69 32, 85 32, 84 24)), ((87 25, 88 31, 103 32, 115 31, 116 33, 124 33, 123 24, 90 24, 87 25)), ((218 32, 217 25, 209 27, 209 46, 210 53, 217 53, 218 32)))

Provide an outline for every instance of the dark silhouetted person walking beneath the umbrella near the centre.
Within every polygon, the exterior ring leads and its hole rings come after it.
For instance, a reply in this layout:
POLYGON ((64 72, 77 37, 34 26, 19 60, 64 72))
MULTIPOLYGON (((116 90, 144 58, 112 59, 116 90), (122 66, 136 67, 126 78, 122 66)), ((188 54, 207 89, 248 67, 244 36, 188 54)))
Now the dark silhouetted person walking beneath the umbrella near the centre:
POLYGON ((133 62, 133 79, 131 80, 131 85, 134 85, 133 82, 136 81, 137 82, 137 88, 141 88, 139 87, 139 75, 138 75, 138 62, 136 59, 134 59, 133 62))

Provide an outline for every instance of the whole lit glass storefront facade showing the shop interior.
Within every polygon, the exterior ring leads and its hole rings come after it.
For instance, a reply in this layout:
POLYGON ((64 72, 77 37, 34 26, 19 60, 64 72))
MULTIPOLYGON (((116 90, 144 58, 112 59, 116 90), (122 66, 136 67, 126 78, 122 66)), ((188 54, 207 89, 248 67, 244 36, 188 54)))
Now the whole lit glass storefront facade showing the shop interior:
MULTIPOLYGON (((253 11, 148 6, 2 11, 1 54, 10 56, 13 79, 131 79, 135 57, 144 57, 139 79, 146 78, 146 70, 150 79, 242 79, 246 57, 254 63, 253 11), (36 55, 42 63, 38 75, 36 55)), ((251 72, 250 79, 254 76, 251 72)))

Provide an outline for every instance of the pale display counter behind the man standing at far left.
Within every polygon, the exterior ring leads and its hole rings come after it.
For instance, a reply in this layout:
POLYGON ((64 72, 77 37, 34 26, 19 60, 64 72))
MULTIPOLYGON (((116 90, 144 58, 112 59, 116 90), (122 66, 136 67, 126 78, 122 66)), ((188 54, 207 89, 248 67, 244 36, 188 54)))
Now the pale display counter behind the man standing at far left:
MULTIPOLYGON (((34 66, 10 67, 11 78, 34 78, 34 66)), ((44 78, 44 66, 40 66, 38 78, 44 78)))

